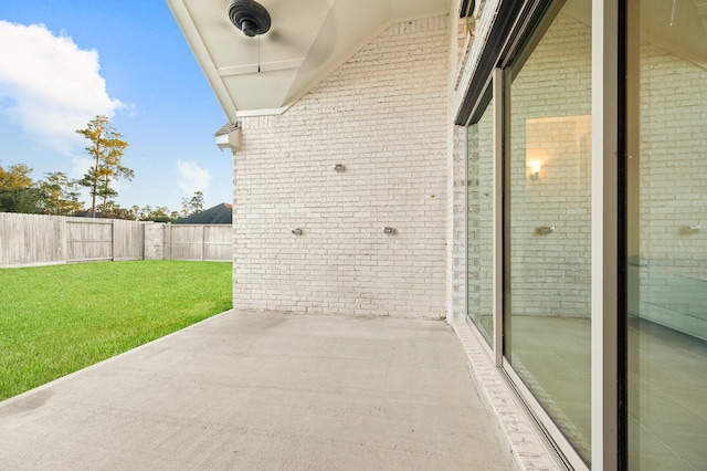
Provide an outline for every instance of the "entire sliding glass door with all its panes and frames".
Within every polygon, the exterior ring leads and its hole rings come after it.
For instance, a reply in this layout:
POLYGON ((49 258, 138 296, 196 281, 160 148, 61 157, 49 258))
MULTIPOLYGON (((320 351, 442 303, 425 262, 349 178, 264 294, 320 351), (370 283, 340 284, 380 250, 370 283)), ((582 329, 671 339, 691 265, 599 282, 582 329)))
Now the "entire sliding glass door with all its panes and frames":
POLYGON ((570 465, 704 469, 707 2, 518 11, 464 117, 468 317, 570 465))

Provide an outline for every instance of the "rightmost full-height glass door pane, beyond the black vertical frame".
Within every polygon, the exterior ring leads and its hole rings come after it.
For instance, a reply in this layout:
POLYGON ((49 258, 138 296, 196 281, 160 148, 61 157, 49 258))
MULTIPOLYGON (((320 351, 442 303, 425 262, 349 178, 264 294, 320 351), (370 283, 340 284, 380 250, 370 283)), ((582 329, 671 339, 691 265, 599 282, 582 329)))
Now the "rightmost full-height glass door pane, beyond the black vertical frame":
POLYGON ((629 18, 629 462, 707 463, 707 9, 629 18))

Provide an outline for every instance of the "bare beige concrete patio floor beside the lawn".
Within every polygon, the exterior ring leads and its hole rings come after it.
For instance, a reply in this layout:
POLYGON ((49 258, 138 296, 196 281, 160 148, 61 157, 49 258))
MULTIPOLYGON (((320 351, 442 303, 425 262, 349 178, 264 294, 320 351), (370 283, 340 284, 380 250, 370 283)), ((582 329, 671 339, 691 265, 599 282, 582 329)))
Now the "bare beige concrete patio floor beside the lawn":
POLYGON ((0 402, 1 470, 509 470, 444 322, 226 312, 0 402))

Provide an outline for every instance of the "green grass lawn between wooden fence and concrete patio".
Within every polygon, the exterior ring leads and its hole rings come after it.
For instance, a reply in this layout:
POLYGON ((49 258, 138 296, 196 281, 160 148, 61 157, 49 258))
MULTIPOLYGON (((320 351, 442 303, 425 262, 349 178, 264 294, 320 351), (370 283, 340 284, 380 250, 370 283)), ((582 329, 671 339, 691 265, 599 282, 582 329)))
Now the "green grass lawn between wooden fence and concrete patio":
POLYGON ((0 270, 0 400, 231 308, 231 263, 0 270))

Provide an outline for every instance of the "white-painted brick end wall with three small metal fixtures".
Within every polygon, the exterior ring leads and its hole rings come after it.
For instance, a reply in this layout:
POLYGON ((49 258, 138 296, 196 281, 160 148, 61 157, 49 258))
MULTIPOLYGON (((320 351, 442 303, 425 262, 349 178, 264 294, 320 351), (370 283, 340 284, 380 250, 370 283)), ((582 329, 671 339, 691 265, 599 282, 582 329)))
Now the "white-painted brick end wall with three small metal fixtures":
POLYGON ((446 17, 395 24, 285 114, 242 118, 235 308, 445 316, 447 44, 446 17))

